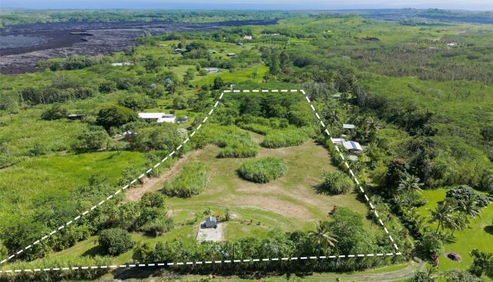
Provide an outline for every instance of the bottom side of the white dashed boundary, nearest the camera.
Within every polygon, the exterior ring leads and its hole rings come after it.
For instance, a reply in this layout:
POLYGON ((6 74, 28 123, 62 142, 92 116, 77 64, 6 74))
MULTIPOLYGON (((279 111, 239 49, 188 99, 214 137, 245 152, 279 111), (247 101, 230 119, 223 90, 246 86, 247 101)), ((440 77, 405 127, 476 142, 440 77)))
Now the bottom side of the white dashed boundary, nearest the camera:
POLYGON ((393 257, 401 255, 401 253, 389 252, 366 254, 366 255, 331 255, 331 256, 312 256, 312 257, 271 257, 268 259, 229 259, 229 260, 210 260, 210 261, 195 261, 195 262, 154 262, 150 264, 113 264, 113 265, 94 265, 94 266, 69 266, 60 267, 54 266, 44 269, 9 269, 0 270, 0 274, 11 274, 18 272, 39 272, 39 271, 74 271, 86 269, 130 269, 134 267, 161 267, 161 266, 181 266, 181 265, 203 265, 203 264, 234 264, 234 263, 253 263, 253 262, 278 262, 278 261, 301 261, 308 259, 350 259, 353 257, 393 257))

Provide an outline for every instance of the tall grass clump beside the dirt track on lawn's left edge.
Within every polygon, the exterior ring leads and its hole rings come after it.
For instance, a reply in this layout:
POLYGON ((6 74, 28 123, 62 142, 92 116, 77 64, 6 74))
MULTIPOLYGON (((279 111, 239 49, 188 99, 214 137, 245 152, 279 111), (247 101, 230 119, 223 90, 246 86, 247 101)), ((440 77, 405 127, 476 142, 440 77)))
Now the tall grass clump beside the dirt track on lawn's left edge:
POLYGON ((164 193, 170 197, 192 197, 204 192, 208 168, 201 162, 187 164, 170 182, 164 184, 164 193))

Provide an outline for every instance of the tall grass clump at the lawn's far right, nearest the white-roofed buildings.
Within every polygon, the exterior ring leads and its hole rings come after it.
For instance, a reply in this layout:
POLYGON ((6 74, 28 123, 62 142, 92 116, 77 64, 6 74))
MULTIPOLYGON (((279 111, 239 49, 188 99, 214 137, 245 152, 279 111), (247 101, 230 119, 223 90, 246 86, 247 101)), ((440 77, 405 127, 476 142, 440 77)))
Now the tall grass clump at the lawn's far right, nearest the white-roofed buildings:
POLYGON ((301 145, 313 135, 312 128, 271 130, 261 145, 266 148, 280 148, 301 145))

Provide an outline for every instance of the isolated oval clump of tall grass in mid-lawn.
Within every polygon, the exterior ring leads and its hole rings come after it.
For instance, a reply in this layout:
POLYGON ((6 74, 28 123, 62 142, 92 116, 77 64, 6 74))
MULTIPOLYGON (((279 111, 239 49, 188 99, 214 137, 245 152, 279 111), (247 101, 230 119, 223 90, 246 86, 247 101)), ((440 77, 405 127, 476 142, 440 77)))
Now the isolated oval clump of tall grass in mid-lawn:
POLYGON ((245 161, 238 170, 239 175, 256 183, 267 183, 287 173, 287 164, 283 159, 266 157, 245 161))

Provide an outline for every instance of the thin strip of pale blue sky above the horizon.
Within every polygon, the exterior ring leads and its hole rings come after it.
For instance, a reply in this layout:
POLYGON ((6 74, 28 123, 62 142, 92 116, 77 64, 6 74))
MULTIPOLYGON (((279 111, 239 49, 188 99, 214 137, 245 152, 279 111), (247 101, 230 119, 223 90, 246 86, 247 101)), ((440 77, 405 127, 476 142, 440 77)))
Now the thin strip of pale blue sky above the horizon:
POLYGON ((159 8, 245 10, 337 10, 442 8, 493 11, 493 0, 0 0, 0 8, 159 8))

